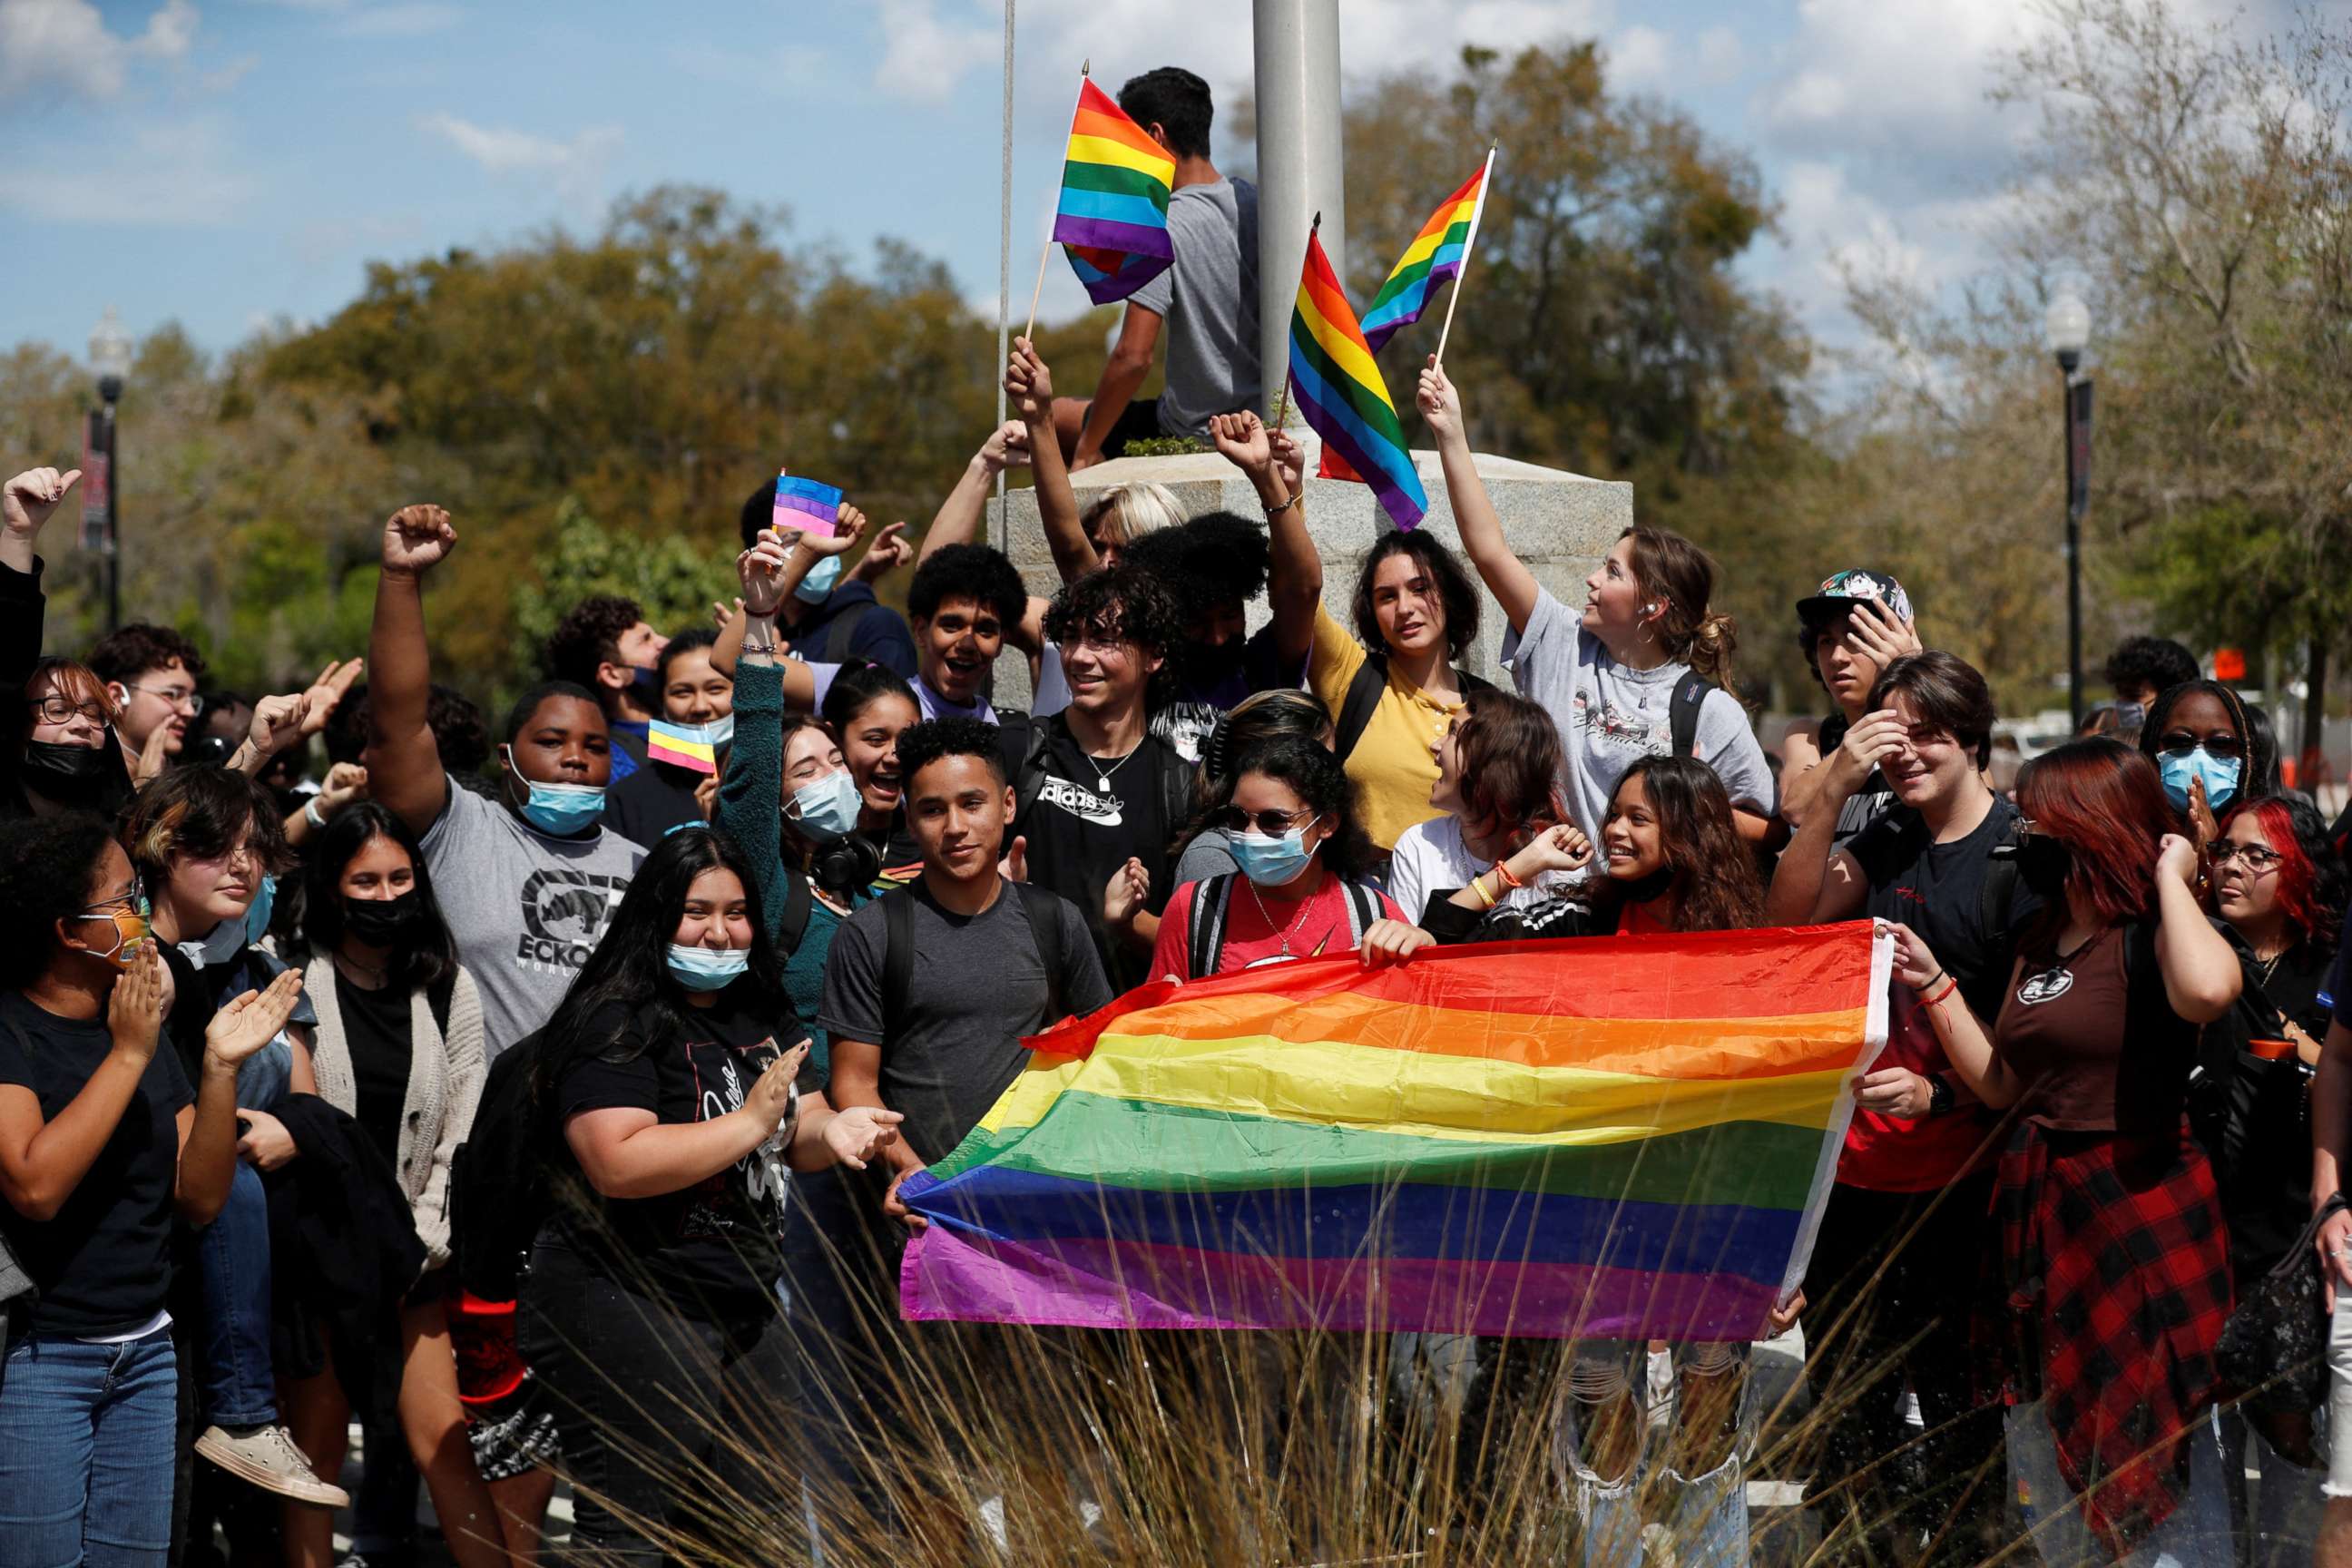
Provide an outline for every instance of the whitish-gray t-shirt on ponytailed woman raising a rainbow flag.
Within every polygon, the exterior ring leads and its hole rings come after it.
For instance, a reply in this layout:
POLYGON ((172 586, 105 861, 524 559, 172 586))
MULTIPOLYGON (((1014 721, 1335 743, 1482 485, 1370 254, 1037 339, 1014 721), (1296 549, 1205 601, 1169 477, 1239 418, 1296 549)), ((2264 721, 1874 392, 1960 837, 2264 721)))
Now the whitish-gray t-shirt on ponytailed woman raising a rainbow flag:
MULTIPOLYGON (((1675 682, 1691 668, 1628 670, 1609 658, 1599 637, 1550 592, 1536 595, 1524 632, 1503 637, 1503 665, 1519 684, 1519 696, 1543 703, 1559 724, 1566 752, 1559 790, 1569 797, 1569 816, 1599 844, 1609 797, 1616 795, 1625 769, 1639 757, 1665 757, 1675 750, 1670 703, 1675 682)), ((1698 708, 1698 738, 1691 750, 1724 780, 1733 806, 1771 813, 1771 769, 1764 766, 1764 748, 1757 745, 1757 731, 1736 696, 1708 691, 1708 701, 1698 708)))

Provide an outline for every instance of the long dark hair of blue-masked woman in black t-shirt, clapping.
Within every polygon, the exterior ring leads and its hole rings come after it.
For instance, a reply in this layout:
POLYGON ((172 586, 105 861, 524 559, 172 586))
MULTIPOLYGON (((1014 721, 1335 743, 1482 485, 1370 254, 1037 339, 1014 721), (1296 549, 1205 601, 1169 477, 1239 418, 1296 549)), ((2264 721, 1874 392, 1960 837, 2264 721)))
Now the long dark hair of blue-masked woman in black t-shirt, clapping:
POLYGON ((727 987, 729 999, 779 1020, 793 1018, 776 947, 767 940, 767 922, 760 917, 760 884, 753 879, 750 860, 715 827, 680 827, 637 867, 621 907, 604 926, 604 938, 581 964, 572 990, 541 1030, 536 1063, 541 1105, 572 1063, 628 1060, 616 1013, 647 1025, 640 1039, 680 1034, 689 1027, 694 1009, 687 987, 670 976, 670 940, 677 936, 694 879, 715 870, 729 870, 743 884, 743 914, 750 919, 750 966, 727 987))

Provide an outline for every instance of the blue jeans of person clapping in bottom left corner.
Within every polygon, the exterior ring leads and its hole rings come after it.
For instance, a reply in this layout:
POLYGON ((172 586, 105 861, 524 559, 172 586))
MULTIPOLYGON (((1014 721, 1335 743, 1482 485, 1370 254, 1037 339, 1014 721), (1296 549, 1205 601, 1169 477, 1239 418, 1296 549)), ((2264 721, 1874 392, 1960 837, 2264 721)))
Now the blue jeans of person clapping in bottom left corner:
POLYGON ((26 1335, 0 1375, 0 1568, 162 1563, 172 1549, 172 1331, 26 1335))

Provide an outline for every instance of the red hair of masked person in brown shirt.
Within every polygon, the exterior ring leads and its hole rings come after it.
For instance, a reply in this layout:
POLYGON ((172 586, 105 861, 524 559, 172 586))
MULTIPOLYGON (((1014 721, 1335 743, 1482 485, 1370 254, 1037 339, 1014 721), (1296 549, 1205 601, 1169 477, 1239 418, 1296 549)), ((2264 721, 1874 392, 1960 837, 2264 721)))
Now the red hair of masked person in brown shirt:
POLYGON ((2065 875, 2072 914, 2107 926, 2147 914, 2157 893, 2157 844, 2173 830, 2157 764, 2107 736, 2070 741, 2018 773, 2018 811, 2034 832, 2072 851, 2065 875))

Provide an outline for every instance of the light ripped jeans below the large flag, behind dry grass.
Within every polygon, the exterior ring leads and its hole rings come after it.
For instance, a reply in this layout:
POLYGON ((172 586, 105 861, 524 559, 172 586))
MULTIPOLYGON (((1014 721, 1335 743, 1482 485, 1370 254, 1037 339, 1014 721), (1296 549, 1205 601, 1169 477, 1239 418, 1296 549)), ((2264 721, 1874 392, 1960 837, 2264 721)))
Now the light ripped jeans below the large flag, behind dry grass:
POLYGON ((1566 1439, 1583 1568, 1632 1568, 1651 1556, 1679 1568, 1748 1566, 1748 1347, 1675 1345, 1672 1366, 1672 1380, 1653 1387, 1644 1342, 1576 1345, 1566 1439), (1705 1399, 1693 1399, 1703 1389, 1705 1399), (1649 1418, 1665 1406, 1672 1427, 1653 1446, 1649 1418))

